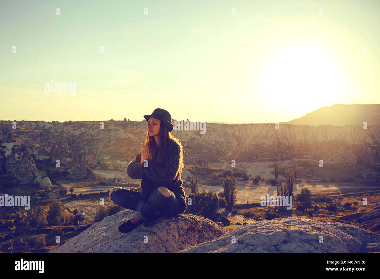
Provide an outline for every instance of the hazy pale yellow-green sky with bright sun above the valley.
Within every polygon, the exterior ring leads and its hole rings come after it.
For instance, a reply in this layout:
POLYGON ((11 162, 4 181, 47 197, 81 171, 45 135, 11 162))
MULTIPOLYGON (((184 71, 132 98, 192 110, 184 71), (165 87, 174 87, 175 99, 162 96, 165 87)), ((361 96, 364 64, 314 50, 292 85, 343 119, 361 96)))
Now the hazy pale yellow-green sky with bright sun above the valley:
POLYGON ((379 104, 379 14, 378 0, 0 0, 0 119, 141 121, 159 107, 266 123, 379 104), (75 95, 46 93, 51 80, 75 95))

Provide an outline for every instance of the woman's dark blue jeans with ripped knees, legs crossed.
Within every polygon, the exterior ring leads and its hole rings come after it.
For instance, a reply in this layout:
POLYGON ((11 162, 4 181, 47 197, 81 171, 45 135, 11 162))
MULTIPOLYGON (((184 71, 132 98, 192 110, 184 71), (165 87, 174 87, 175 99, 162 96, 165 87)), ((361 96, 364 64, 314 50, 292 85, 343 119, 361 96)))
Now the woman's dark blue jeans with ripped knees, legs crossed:
POLYGON ((175 216, 179 213, 179 205, 176 195, 168 188, 165 189, 169 193, 169 197, 161 194, 155 189, 150 194, 147 202, 144 202, 140 196, 141 192, 120 188, 112 192, 111 200, 117 205, 130 210, 138 211, 137 215, 140 219, 146 220, 153 214, 164 212, 169 216, 175 216))

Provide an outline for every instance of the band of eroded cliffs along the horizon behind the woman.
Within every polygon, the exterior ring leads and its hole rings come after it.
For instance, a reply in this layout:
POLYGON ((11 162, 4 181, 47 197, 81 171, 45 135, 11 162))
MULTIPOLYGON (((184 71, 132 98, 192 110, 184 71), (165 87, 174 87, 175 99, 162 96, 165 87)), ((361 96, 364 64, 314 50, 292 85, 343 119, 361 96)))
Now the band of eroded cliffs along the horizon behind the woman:
MULTIPOLYGON (((86 178, 94 175, 91 167, 125 169, 146 139, 145 120, 104 121, 104 129, 100 129, 98 122, 18 121, 17 129, 10 127, 10 121, 0 122, 0 171, 11 173, 19 166, 25 176, 23 183, 31 179, 33 163, 28 165, 29 170, 25 159, 19 157, 20 148, 13 149, 13 145, 24 145, 34 160, 47 159, 52 164, 60 160, 71 178, 86 178)), ((185 161, 219 158, 230 153, 225 160, 282 161, 296 156, 350 164, 380 162, 380 125, 369 125, 368 129, 361 125, 280 124, 277 127, 275 124, 207 126, 206 123, 204 134, 180 130, 173 130, 172 134, 187 151, 185 161)))

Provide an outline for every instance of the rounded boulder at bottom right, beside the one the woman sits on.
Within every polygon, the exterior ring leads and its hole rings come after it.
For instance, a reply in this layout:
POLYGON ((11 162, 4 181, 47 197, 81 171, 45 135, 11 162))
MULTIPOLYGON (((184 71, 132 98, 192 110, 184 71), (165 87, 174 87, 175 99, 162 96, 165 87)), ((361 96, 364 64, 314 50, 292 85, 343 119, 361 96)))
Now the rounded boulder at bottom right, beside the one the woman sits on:
POLYGON ((372 253, 380 235, 355 225, 302 218, 257 221, 180 253, 372 253), (323 243, 320 243, 323 236, 323 243), (234 241, 235 240, 235 241, 234 241))

